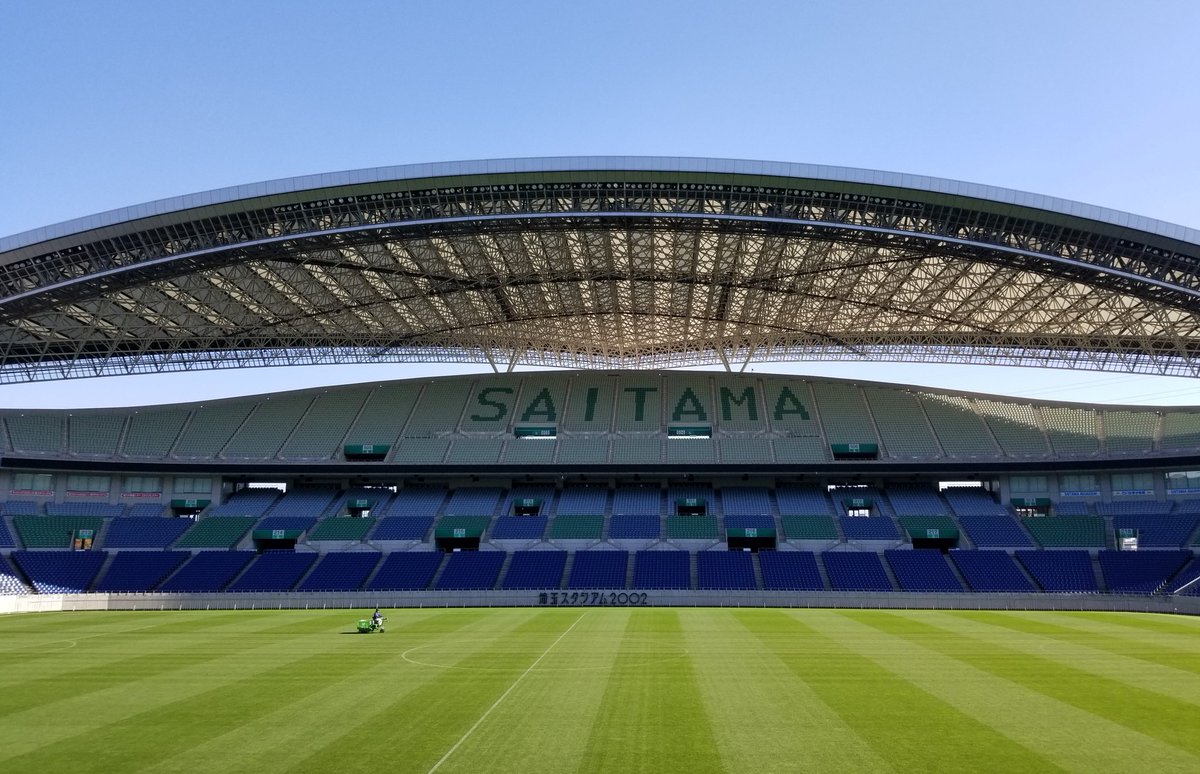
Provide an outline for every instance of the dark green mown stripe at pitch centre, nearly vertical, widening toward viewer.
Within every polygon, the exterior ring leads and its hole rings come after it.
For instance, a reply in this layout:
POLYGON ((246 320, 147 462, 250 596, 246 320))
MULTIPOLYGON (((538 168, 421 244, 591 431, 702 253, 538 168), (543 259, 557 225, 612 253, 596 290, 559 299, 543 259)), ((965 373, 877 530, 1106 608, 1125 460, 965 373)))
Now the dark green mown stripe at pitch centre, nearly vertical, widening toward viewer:
POLYGON ((725 770, 679 614, 629 613, 577 772, 725 770), (684 658, 648 658, 680 652, 684 658))

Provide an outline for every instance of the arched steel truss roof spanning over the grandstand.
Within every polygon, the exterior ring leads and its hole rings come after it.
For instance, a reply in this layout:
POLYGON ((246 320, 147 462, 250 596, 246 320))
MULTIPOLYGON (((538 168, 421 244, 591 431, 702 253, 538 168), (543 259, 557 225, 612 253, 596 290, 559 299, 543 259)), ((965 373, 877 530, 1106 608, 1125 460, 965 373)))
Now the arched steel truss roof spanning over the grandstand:
POLYGON ((1200 376, 1200 232, 953 181, 382 168, 0 240, 0 383, 247 365, 905 360, 1200 376))

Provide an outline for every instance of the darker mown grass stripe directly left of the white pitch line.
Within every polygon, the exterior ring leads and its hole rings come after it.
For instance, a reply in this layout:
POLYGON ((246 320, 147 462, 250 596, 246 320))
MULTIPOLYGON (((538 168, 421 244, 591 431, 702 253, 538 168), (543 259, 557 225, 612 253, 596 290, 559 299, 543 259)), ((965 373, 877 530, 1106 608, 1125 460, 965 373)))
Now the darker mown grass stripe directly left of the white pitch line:
MULTIPOLYGON (((482 611, 484 618, 461 632, 431 640, 438 653, 427 664, 408 664, 406 673, 422 683, 394 701, 365 703, 362 719, 332 738, 314 740, 293 772, 378 772, 379 768, 428 772, 492 707, 514 680, 578 618, 580 611, 482 611), (488 626, 498 628, 488 632, 488 626), (364 755, 395 750, 396 760, 364 755)), ((390 634, 390 631, 389 631, 390 634)), ((403 680, 403 676, 400 677, 403 680)), ((397 685, 398 688, 398 685, 397 685)), ((344 724, 343 724, 344 726, 344 724)), ((450 758, 458 764, 457 754, 450 758)), ((503 761, 485 755, 475 770, 502 770, 503 761)), ((439 772, 444 770, 439 769, 439 772)))

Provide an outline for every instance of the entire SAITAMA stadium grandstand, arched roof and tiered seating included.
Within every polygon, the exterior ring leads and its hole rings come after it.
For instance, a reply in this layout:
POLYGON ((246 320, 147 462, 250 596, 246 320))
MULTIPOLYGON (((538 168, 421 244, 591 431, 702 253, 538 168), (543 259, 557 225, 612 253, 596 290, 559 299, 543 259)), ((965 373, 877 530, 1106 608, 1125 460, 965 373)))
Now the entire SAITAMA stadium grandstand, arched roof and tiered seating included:
POLYGON ((0 410, 0 610, 1200 612, 1200 406, 888 378, 1200 377, 1198 266, 1200 233, 1079 203, 691 158, 359 170, 0 239, 0 383, 484 371, 0 410), (748 371, 811 360, 878 378, 748 371))

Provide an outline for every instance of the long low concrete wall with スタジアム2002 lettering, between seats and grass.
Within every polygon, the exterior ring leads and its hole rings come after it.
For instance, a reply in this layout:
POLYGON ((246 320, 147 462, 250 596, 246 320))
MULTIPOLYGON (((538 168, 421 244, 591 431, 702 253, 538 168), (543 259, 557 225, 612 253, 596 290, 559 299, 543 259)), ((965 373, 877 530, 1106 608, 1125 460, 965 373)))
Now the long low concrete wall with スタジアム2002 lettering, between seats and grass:
POLYGON ((0 613, 98 610, 373 610, 374 607, 853 607, 1090 610, 1200 616, 1200 596, 914 594, 905 592, 353 592, 282 594, 29 594, 0 613))

